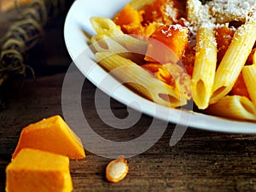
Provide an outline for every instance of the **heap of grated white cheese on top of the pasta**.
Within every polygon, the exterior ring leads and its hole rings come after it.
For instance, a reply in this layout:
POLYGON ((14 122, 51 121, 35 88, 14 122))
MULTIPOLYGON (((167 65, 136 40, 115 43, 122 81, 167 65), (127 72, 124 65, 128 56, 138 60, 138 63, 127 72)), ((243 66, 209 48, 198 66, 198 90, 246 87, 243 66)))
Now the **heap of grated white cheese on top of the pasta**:
POLYGON ((183 21, 191 32, 190 41, 193 44, 200 27, 228 26, 232 20, 245 22, 255 19, 255 12, 256 0, 212 0, 205 5, 200 0, 188 0, 187 18, 183 21))

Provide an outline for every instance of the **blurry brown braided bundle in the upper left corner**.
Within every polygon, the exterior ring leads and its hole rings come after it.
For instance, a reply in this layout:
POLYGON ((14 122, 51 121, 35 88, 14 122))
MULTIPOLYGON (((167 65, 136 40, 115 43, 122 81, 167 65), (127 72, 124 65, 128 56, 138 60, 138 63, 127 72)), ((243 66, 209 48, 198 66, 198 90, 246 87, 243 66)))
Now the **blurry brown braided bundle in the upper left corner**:
POLYGON ((26 7, 19 7, 16 0, 15 5, 17 19, 0 39, 0 100, 7 80, 26 76, 26 68, 30 68, 24 61, 27 50, 38 44, 45 24, 67 7, 67 0, 33 0, 26 7))

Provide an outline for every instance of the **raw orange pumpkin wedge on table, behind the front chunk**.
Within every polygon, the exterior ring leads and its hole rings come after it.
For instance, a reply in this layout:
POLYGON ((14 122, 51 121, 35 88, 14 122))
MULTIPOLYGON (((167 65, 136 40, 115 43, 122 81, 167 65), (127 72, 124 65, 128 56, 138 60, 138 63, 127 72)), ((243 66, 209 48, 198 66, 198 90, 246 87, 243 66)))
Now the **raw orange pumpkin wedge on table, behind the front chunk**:
POLYGON ((71 160, 79 160, 85 157, 80 138, 59 115, 26 126, 21 131, 20 140, 15 148, 12 160, 19 154, 21 148, 36 148, 62 154, 71 160))

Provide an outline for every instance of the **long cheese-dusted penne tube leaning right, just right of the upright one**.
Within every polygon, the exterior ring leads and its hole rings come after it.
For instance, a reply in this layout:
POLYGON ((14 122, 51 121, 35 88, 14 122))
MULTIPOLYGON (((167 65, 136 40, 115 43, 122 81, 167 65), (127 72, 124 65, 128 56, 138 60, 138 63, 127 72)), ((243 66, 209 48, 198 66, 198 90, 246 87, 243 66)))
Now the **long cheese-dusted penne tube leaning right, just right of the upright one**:
POLYGON ((256 20, 248 20, 234 34, 230 47, 219 64, 210 103, 218 102, 230 92, 241 73, 256 40, 256 20))

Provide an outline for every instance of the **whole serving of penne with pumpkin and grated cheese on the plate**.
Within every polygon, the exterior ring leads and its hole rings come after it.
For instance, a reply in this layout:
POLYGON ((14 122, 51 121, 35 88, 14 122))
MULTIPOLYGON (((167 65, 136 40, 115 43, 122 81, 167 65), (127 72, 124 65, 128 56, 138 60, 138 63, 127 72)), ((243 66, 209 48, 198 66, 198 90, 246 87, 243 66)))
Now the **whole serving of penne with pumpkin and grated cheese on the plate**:
POLYGON ((132 0, 90 23, 99 65, 142 96, 256 121, 254 0, 132 0))

